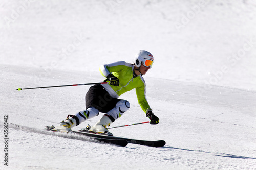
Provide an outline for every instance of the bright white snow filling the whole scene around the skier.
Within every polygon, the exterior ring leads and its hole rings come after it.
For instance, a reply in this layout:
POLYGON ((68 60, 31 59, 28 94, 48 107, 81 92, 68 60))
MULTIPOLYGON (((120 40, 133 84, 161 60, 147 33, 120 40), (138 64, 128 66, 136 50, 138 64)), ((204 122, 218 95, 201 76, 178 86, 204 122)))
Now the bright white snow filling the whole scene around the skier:
MULTIPOLYGON (((256 169, 255 1, 4 0, 0 8, 0 169, 256 169), (162 139, 162 148, 46 133, 84 110, 90 86, 15 90, 100 82, 100 65, 131 63, 140 49, 155 57, 143 77, 160 123, 111 132, 162 139)), ((134 90, 120 98, 131 108, 112 127, 148 120, 134 90)))

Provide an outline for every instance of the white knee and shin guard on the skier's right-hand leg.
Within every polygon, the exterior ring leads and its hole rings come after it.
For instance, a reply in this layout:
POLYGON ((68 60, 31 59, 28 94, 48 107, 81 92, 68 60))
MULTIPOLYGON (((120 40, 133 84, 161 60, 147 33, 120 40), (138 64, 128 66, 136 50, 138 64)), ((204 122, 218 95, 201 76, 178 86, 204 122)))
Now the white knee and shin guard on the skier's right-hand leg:
POLYGON ((124 112, 126 112, 130 108, 130 103, 126 100, 121 100, 117 102, 116 107, 111 109, 105 115, 108 116, 112 122, 121 117, 124 112))

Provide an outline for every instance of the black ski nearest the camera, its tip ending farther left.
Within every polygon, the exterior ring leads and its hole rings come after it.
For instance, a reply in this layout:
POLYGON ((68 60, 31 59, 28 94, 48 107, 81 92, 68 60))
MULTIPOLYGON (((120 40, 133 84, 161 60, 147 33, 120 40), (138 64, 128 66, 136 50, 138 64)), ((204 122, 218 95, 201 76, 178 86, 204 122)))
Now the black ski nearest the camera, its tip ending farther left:
MULTIPOLYGON (((54 126, 46 126, 45 130, 47 131, 52 131, 52 132, 57 132, 53 131, 54 126)), ((69 131, 66 133, 76 133, 76 131, 69 131)), ((92 139, 92 141, 97 141, 97 142, 102 142, 102 143, 108 143, 108 144, 114 144, 114 145, 119 145, 121 147, 125 147, 128 142, 125 139, 111 139, 111 138, 102 138, 100 136, 87 136, 88 138, 92 139)))

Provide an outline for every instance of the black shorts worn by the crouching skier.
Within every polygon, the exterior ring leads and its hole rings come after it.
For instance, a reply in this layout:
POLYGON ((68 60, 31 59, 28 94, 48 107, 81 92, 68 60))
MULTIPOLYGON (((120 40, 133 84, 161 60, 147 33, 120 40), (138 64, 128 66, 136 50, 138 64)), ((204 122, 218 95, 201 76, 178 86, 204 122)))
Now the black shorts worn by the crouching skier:
POLYGON ((90 87, 86 93, 86 109, 95 107, 99 112, 106 113, 113 109, 121 99, 112 98, 100 84, 90 87))

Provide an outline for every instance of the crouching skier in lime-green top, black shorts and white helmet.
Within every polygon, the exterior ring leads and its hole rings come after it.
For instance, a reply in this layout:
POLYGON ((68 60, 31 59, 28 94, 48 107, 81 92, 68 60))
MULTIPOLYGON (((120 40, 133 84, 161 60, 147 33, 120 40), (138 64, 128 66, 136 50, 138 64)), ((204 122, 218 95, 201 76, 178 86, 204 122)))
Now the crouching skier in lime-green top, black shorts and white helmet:
POLYGON ((108 126, 130 108, 127 100, 118 99, 127 91, 136 89, 138 102, 146 116, 150 118, 151 124, 158 124, 159 118, 155 116, 148 105, 145 96, 146 85, 142 75, 152 68, 154 57, 150 52, 140 50, 134 58, 134 64, 118 61, 100 66, 101 74, 106 77, 104 82, 108 84, 97 84, 90 87, 86 94, 86 110, 75 115, 68 115, 55 131, 68 131, 80 123, 105 113, 89 131, 94 133, 111 135, 108 126))

